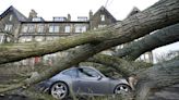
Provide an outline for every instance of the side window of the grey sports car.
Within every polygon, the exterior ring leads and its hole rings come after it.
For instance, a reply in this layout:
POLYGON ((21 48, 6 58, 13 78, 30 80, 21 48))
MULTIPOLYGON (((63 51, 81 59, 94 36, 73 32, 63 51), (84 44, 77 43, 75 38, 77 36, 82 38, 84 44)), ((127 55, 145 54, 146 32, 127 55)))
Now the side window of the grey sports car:
POLYGON ((100 74, 98 72, 96 72, 93 68, 87 68, 87 67, 80 67, 77 70, 79 72, 79 77, 98 77, 100 76, 100 74))

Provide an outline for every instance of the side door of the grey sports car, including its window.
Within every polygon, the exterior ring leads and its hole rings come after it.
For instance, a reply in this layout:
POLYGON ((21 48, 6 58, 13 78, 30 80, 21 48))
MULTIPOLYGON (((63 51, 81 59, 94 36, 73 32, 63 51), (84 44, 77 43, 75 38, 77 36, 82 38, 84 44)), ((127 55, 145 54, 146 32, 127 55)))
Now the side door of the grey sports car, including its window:
POLYGON ((109 80, 97 71, 90 67, 80 67, 79 77, 75 79, 75 92, 103 95, 108 93, 109 80))

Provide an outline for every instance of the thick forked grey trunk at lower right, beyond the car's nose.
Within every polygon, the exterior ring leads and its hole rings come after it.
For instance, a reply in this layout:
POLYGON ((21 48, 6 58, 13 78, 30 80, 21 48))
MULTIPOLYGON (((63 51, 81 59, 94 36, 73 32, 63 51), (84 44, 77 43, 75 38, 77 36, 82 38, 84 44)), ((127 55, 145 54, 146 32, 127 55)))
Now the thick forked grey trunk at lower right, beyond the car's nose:
POLYGON ((138 74, 135 100, 146 100, 151 89, 162 88, 179 83, 179 58, 154 65, 138 74))

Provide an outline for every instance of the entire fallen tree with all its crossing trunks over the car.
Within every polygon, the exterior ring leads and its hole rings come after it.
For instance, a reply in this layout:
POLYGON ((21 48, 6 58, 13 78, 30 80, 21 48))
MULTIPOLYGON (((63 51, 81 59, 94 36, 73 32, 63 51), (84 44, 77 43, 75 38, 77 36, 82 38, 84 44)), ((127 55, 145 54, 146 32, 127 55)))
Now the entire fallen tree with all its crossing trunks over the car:
POLYGON ((64 68, 87 61, 105 64, 126 76, 130 76, 133 73, 136 74, 135 99, 145 100, 150 90, 179 83, 178 59, 143 68, 139 68, 139 66, 144 65, 143 63, 136 64, 134 62, 138 57, 146 51, 179 40, 178 17, 179 1, 160 0, 151 8, 103 29, 60 38, 56 41, 1 45, 0 64, 64 51, 70 48, 73 48, 73 50, 59 60, 58 63, 60 64, 46 68, 36 77, 24 79, 12 87, 0 89, 0 92, 34 85, 64 68), (150 35, 154 30, 156 32, 150 35), (139 41, 133 41, 140 37, 143 38, 139 41), (97 54, 103 50, 130 41, 133 42, 119 50, 117 57, 97 54), (76 46, 80 47, 75 48, 76 46))

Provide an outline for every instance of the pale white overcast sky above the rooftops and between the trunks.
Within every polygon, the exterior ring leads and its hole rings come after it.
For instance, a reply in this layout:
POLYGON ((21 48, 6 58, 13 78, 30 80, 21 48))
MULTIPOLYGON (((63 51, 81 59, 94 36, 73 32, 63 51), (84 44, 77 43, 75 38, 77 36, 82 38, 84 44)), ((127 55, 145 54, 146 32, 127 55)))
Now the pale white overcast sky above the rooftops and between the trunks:
MULTIPOLYGON (((43 16, 47 21, 52 20, 52 16, 67 16, 68 13, 71 14, 72 20, 76 20, 77 16, 88 16, 90 10, 95 13, 102 5, 106 5, 107 10, 117 20, 123 20, 133 7, 144 10, 157 1, 158 0, 0 0, 0 13, 10 5, 13 5, 25 16, 28 16, 29 11, 34 9, 38 13, 38 16, 43 16)), ((163 53, 171 50, 179 50, 179 42, 170 47, 156 49, 154 52, 163 53)))

